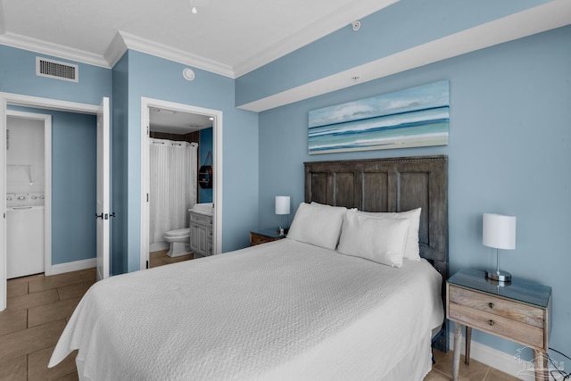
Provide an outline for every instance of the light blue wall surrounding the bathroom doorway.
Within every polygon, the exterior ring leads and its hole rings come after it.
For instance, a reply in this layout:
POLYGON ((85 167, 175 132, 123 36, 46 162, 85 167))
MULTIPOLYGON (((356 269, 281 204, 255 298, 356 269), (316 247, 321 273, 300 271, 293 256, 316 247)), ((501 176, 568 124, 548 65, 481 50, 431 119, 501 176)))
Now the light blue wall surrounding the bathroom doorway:
POLYGON ((244 178, 245 170, 258 168, 258 115, 237 110, 235 81, 194 69, 196 78, 182 76, 185 65, 137 51, 128 51, 127 205, 123 231, 127 270, 139 268, 141 203, 141 96, 223 112, 223 226, 222 251, 248 244, 249 231, 258 225, 258 178, 244 178))

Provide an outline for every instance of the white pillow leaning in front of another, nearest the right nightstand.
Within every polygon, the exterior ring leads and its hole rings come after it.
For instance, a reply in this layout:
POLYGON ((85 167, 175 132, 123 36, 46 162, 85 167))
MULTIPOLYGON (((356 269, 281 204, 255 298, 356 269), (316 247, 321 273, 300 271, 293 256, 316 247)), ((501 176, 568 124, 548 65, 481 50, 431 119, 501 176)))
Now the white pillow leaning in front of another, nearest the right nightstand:
POLYGON ((347 211, 337 251, 399 268, 409 225, 408 219, 380 219, 347 211))

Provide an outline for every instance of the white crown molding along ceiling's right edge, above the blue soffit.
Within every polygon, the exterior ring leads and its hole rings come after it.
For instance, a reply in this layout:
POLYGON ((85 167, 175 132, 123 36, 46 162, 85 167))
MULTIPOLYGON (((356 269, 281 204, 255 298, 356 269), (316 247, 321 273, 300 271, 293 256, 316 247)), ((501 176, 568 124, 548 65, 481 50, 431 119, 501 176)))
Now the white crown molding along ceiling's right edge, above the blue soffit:
POLYGON ((307 28, 298 30, 292 36, 286 37, 277 42, 277 44, 273 44, 258 54, 254 54, 252 57, 236 64, 234 66, 236 78, 252 70, 256 70, 269 62, 275 61, 285 54, 292 53, 303 46, 307 46, 321 37, 326 37, 336 30, 339 30, 339 25, 348 26, 352 21, 358 21, 371 13, 378 12, 399 1, 400 0, 377 0, 355 2, 350 7, 344 7, 343 12, 339 12, 339 10, 331 12, 321 17, 318 21, 313 22, 307 28))

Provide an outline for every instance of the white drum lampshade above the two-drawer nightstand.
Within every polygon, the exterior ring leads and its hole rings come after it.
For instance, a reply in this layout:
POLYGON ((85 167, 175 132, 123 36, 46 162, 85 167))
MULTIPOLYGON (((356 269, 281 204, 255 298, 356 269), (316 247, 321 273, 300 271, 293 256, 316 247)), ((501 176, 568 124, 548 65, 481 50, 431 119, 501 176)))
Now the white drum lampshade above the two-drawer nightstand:
POLYGON ((482 244, 496 249, 516 248, 516 217, 484 213, 482 244))

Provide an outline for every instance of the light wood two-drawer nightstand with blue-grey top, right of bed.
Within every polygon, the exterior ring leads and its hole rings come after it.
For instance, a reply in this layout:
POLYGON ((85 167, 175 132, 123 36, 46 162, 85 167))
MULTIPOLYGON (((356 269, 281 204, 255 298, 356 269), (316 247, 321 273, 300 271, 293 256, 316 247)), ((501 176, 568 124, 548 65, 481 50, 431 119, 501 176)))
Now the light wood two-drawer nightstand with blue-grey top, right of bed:
POLYGON ((472 327, 534 350, 535 379, 549 379, 551 287, 512 278, 505 286, 485 272, 462 269, 446 282, 446 318, 456 322, 453 379, 458 379, 462 326, 466 327, 466 364, 472 327))

